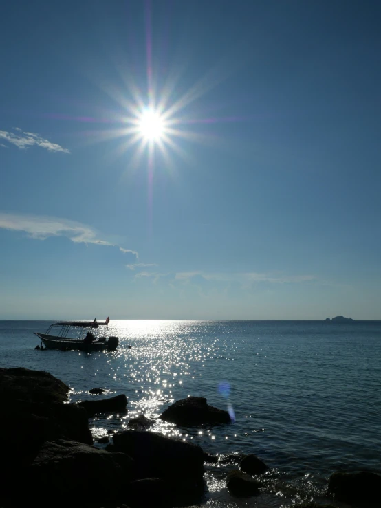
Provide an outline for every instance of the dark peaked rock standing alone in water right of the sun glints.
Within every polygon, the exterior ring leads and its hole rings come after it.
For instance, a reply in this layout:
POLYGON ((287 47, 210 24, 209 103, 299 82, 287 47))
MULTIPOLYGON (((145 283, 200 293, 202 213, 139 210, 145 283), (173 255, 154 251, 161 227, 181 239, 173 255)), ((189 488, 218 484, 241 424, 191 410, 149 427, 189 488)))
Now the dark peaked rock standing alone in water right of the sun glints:
POLYGON ((231 423, 227 411, 208 406, 204 397, 187 397, 169 406, 160 418, 181 426, 195 426, 202 423, 215 425, 231 423))

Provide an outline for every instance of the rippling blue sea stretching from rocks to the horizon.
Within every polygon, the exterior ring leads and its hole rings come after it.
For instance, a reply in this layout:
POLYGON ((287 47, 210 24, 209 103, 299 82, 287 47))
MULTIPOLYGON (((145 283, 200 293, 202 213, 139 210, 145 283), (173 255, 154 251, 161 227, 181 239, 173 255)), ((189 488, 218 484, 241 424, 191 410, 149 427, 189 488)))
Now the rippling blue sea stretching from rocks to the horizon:
POLYGON ((96 387, 125 393, 128 412, 91 419, 95 439, 144 413, 156 419, 153 432, 221 459, 254 453, 271 467, 261 496, 236 498, 224 481, 236 466, 206 466, 203 507, 323 503, 332 472, 381 471, 381 322, 111 320, 115 352, 37 351, 33 332, 49 324, 0 321, 0 366, 48 371, 69 384, 72 401, 96 387), (157 420, 188 395, 231 406, 235 423, 177 428, 157 420))

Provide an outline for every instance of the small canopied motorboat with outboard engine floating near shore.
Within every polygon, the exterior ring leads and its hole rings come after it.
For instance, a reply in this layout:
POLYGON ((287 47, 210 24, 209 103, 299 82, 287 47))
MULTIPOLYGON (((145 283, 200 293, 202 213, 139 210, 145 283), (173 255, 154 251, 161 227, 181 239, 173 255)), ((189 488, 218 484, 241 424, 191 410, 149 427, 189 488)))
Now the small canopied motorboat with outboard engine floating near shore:
POLYGON ((107 327, 109 322, 109 318, 105 322, 98 322, 96 318, 94 321, 56 322, 51 324, 45 333, 33 332, 41 339, 41 346, 36 349, 115 351, 119 344, 118 337, 98 336, 99 327, 107 327))

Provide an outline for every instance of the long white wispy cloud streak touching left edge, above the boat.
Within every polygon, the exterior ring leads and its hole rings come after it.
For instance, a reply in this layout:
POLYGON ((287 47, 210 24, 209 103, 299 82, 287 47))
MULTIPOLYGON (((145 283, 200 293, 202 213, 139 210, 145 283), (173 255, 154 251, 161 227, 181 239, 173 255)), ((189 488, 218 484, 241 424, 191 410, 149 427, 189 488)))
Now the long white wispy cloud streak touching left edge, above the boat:
POLYGON ((102 240, 96 230, 88 225, 58 219, 56 217, 41 217, 35 215, 17 215, 0 213, 0 229, 22 231, 32 239, 45 240, 50 236, 66 236, 76 243, 94 243, 95 245, 108 245, 118 247, 120 252, 133 254, 139 258, 135 250, 125 249, 116 243, 102 240))

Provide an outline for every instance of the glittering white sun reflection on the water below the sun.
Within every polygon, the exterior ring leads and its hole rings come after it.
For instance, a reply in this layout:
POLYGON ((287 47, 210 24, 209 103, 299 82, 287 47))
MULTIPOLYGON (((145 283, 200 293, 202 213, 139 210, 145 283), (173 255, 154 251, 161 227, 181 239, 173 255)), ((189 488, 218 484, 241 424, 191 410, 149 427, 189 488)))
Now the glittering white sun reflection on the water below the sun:
MULTIPOLYGON (((154 420, 153 432, 184 441, 214 442, 215 434, 208 428, 184 433, 172 423, 161 421, 159 416, 177 399, 205 395, 202 389, 197 393, 195 380, 202 379, 207 362, 219 356, 217 338, 206 342, 199 333, 199 322, 193 321, 114 321, 109 328, 110 333, 119 336, 120 347, 105 356, 104 368, 97 368, 96 374, 106 369, 113 386, 110 395, 124 392, 129 404, 125 414, 94 418, 91 421, 94 437, 98 439, 127 428, 129 419, 144 414, 154 420)), ((217 393, 217 381, 204 380, 207 386, 210 383, 215 383, 217 393)), ((76 394, 76 398, 81 395, 76 394)))

